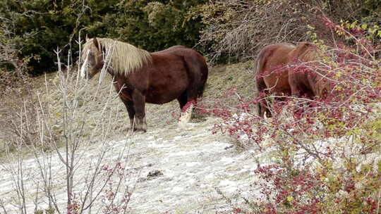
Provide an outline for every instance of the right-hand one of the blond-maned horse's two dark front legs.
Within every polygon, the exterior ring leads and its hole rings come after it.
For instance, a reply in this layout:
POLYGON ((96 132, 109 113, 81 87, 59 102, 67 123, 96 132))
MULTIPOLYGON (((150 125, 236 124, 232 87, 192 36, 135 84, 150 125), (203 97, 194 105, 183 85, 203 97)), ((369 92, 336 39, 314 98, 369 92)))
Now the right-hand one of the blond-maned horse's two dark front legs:
POLYGON ((138 90, 132 94, 133 108, 135 110, 135 130, 147 132, 147 122, 145 120, 145 96, 138 90))

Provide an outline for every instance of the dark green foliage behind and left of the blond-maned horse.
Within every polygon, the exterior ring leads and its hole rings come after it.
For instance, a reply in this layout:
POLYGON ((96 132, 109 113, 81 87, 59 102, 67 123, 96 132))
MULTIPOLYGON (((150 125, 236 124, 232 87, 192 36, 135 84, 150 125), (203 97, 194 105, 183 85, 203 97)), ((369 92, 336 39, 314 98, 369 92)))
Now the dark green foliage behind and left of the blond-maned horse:
MULTIPOLYGON (((176 44, 194 46, 202 27, 188 11, 201 1, 96 1, 35 0, 0 2, 0 27, 20 49, 19 58, 30 60, 30 73, 56 70, 56 54, 71 49, 77 56, 78 33, 111 37, 148 51, 176 44)), ((65 61, 63 61, 66 63, 65 61)))

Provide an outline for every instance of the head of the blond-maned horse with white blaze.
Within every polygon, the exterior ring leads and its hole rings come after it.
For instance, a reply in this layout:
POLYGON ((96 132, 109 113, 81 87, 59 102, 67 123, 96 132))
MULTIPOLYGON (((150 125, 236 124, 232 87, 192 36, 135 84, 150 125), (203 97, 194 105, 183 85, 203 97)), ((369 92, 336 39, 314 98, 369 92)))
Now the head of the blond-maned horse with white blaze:
POLYGON ((104 65, 104 50, 97 38, 87 39, 81 58, 83 61, 80 68, 81 77, 91 79, 102 70, 104 65))

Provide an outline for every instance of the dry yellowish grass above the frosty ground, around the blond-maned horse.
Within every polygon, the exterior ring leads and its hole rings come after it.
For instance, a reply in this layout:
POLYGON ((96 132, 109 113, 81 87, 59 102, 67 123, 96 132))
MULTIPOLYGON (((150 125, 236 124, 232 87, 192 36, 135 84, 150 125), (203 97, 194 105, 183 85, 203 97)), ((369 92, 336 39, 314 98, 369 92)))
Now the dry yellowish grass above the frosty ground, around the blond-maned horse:
MULTIPOLYGON (((53 118, 50 118, 49 124, 54 130, 54 134, 57 139, 62 136, 63 129, 60 127, 62 124, 62 93, 59 89, 60 76, 57 73, 50 73, 46 76, 35 77, 31 79, 32 81, 32 92, 23 94, 23 96, 12 96, 4 97, 4 101, 0 106, 0 115, 1 115, 1 130, 0 130, 0 153, 1 156, 4 155, 6 151, 5 146, 10 145, 8 139, 11 136, 16 137, 17 134, 12 133, 13 125, 12 120, 15 120, 18 115, 20 108, 23 108, 21 105, 21 100, 25 100, 30 103, 28 108, 31 108, 37 103, 37 94, 41 94, 43 103, 46 104, 44 108, 46 111, 49 111, 50 115, 54 115, 53 118)), ((80 97, 78 101, 78 111, 81 111, 85 115, 85 124, 83 127, 83 134, 90 135, 92 130, 97 126, 96 118, 99 114, 99 111, 102 111, 104 102, 107 97, 109 97, 111 88, 111 76, 106 75, 104 80, 98 84, 98 78, 95 77, 90 80, 89 85, 87 86, 88 92, 84 93, 84 96, 80 97), (97 94, 95 94, 97 93, 97 94), (94 118, 94 120, 92 120, 94 118)), ((222 99, 226 90, 236 88, 236 97, 231 97, 225 100, 227 106, 235 106, 238 101, 238 96, 250 98, 254 96, 254 78, 253 78, 253 61, 248 61, 246 63, 237 63, 232 65, 219 65, 213 68, 210 68, 210 74, 207 81, 207 87, 205 88, 204 98, 200 103, 203 106, 212 107, 216 99, 222 99)), ((72 96, 69 92, 68 96, 72 96)), ((129 120, 128 113, 123 103, 119 101, 119 97, 115 92, 111 92, 112 99, 109 99, 108 109, 111 108, 117 109, 119 116, 113 122, 114 131, 117 130, 119 133, 118 136, 114 136, 116 139, 126 137, 129 130, 129 120)), ((32 112, 31 112, 32 113, 32 112)), ((147 116, 147 125, 148 132, 154 130, 156 127, 173 127, 176 124, 176 118, 180 113, 179 103, 171 101, 164 105, 153 105, 147 103, 146 105, 146 116, 147 116)), ((82 120, 78 118, 77 120, 82 120)), ((199 120, 205 120, 203 116, 196 114, 193 118, 193 122, 199 120)), ((93 136, 93 141, 97 141, 97 136, 93 136)), ((32 141, 32 139, 30 139, 32 141)), ((32 144, 32 142, 31 142, 32 144)), ((61 144, 63 145, 63 144, 61 144)))

